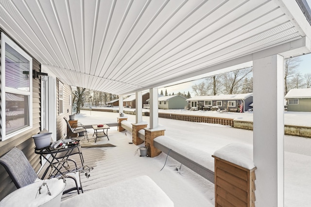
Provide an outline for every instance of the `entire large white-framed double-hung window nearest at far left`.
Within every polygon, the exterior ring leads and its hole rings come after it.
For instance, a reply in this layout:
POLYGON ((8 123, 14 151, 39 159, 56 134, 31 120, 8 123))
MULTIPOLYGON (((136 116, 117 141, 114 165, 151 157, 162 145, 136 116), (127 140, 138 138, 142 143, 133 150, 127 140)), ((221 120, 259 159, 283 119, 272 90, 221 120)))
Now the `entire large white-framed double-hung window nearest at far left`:
POLYGON ((1 140, 32 127, 33 60, 1 33, 1 140), (4 115, 5 114, 5 115, 4 115))

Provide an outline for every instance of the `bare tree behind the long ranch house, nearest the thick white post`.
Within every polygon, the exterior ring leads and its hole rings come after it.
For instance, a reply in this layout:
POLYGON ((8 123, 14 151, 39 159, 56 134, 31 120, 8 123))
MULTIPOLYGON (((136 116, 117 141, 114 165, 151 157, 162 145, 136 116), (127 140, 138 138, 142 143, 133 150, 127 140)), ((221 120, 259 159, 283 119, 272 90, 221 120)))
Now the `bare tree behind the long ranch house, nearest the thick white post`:
POLYGON ((238 94, 241 91, 242 80, 253 71, 252 67, 235 70, 222 75, 225 94, 238 94))

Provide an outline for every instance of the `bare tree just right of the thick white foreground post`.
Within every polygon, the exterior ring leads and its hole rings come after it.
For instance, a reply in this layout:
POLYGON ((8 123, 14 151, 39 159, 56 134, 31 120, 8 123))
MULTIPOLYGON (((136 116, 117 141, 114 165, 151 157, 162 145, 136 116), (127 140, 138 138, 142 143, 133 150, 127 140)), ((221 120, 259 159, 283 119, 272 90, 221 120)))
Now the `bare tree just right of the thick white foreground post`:
POLYGON ((284 60, 284 95, 296 86, 296 82, 293 81, 293 79, 295 79, 297 74, 296 69, 301 61, 302 59, 300 57, 287 58, 284 60))

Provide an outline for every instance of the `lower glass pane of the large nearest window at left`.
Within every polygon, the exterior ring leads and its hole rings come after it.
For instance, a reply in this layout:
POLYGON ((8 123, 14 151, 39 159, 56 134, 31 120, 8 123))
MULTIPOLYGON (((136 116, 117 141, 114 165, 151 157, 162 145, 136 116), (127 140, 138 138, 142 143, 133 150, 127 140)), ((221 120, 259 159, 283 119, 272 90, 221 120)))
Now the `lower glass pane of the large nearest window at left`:
POLYGON ((28 96, 5 93, 6 134, 29 126, 28 96))

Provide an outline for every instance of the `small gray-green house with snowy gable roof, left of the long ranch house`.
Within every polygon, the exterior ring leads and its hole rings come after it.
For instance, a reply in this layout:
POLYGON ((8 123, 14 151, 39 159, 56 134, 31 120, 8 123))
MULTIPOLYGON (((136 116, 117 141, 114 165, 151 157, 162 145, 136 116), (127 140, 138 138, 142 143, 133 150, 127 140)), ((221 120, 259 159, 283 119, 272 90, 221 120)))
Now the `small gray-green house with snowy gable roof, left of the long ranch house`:
MULTIPOLYGON (((187 106, 187 98, 184 96, 158 96, 159 109, 184 109, 187 106)), ((149 102, 149 99, 147 100, 149 102)))

